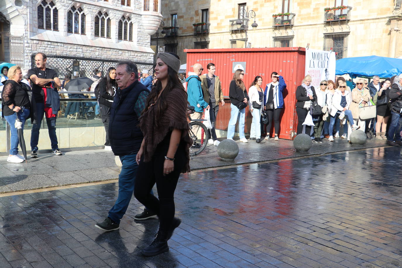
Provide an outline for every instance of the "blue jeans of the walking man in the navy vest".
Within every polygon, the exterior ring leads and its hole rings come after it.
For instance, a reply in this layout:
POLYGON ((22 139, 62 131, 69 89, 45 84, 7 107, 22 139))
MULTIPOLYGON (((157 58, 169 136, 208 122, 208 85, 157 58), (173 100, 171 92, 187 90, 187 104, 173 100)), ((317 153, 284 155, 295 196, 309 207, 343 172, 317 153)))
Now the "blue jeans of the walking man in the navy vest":
MULTIPOLYGON (((138 168, 135 161, 136 156, 137 153, 120 156, 122 166, 119 174, 119 196, 107 216, 115 223, 120 223, 120 219, 123 218, 123 215, 127 211, 131 196, 134 194, 134 182, 138 168)), ((152 189, 151 194, 154 195, 152 189)))

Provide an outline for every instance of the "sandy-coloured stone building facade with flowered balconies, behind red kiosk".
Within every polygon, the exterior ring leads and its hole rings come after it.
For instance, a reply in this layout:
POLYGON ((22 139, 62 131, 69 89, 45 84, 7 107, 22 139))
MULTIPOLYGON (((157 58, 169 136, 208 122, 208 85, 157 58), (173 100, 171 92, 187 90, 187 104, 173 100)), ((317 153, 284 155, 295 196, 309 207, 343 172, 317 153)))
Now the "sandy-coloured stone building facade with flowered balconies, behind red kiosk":
POLYGON ((183 62, 183 49, 308 44, 337 58, 402 56, 401 0, 162 0, 161 7, 165 29, 151 45, 176 51, 183 62))

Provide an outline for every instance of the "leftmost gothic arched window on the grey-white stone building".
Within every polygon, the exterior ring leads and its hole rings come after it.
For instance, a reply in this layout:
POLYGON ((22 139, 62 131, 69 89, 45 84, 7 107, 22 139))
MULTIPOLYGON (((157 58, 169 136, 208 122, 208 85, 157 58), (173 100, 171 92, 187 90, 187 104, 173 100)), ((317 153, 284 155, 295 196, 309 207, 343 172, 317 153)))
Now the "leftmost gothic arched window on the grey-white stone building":
POLYGON ((38 28, 59 31, 59 12, 53 1, 47 3, 43 0, 38 8, 38 28))

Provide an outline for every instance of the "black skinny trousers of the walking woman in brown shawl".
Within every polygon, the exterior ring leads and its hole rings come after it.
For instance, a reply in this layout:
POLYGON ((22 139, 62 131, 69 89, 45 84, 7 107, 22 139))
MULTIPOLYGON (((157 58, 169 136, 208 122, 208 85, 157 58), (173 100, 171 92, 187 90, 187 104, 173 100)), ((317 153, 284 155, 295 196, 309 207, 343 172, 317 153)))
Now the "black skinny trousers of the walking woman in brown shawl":
POLYGON ((135 198, 159 216, 159 230, 161 232, 167 232, 172 224, 175 211, 174 190, 176 190, 180 171, 183 170, 186 162, 185 149, 183 144, 180 144, 174 155, 173 172, 166 176, 163 175, 163 165, 165 155, 169 149, 170 135, 171 132, 156 147, 150 162, 144 162, 143 160, 139 162, 134 186, 135 198), (155 183, 159 199, 150 194, 155 183))

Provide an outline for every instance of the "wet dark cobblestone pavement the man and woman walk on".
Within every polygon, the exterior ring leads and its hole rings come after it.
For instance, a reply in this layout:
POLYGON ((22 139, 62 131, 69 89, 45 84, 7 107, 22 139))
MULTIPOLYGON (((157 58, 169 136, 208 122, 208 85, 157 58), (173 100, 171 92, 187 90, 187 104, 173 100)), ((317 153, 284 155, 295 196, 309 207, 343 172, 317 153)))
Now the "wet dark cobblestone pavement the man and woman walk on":
POLYGON ((117 184, 0 198, 0 267, 402 267, 401 150, 379 147, 181 176, 170 251, 158 220, 103 233, 117 184))

